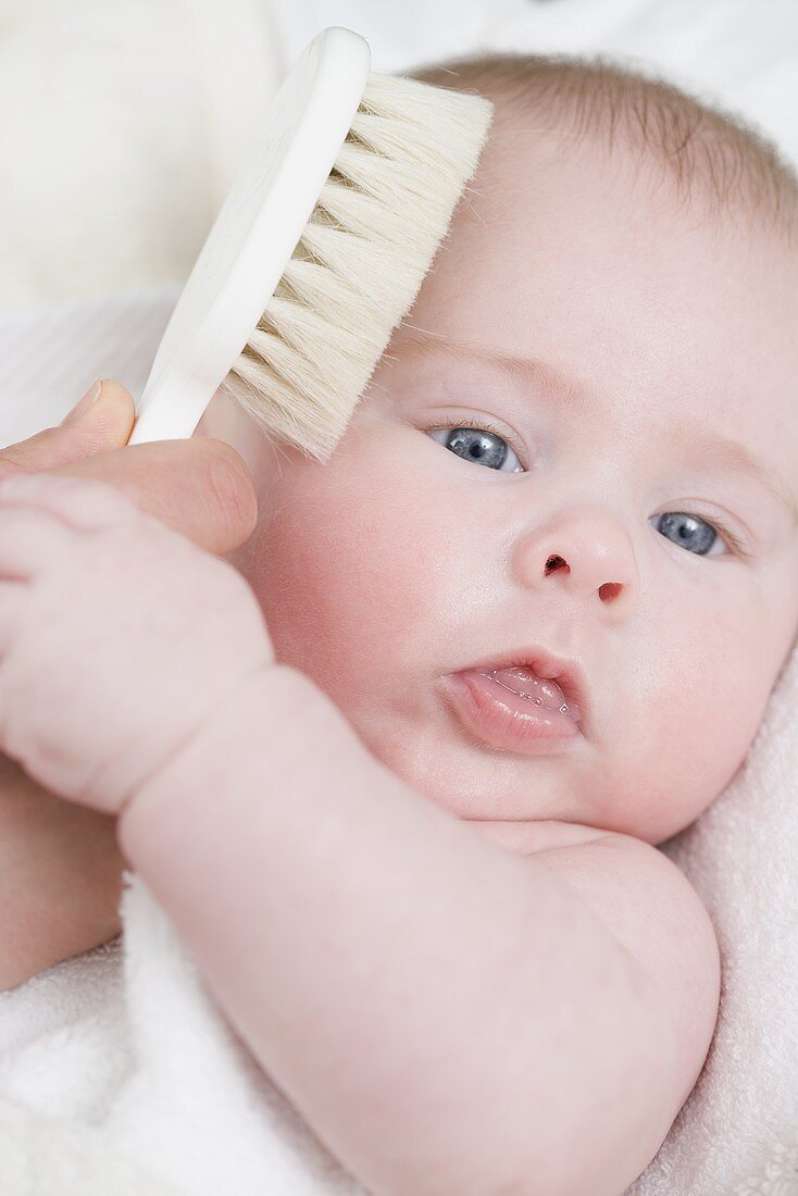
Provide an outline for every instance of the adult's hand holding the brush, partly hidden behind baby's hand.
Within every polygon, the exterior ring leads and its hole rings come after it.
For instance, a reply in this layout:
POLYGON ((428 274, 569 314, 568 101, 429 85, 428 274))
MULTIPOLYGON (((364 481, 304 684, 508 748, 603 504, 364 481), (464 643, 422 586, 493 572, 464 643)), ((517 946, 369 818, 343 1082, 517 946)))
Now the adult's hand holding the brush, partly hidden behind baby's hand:
MULTIPOLYGON (((128 391, 105 379, 57 428, 0 450, 0 475, 95 478, 208 551, 243 544, 257 501, 238 453, 212 439, 127 445, 134 419, 128 391)), ((0 990, 114 938, 124 867, 114 818, 61 801, 0 755, 0 990)))

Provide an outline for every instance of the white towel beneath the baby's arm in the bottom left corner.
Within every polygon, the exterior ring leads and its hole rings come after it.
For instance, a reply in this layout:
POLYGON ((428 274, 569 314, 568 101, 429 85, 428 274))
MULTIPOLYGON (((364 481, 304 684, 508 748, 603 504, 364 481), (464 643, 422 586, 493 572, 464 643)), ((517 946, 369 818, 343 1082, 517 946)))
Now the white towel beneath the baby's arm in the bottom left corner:
POLYGON ((2 1196, 363 1194, 126 883, 120 940, 0 994, 2 1196))

